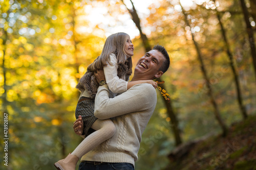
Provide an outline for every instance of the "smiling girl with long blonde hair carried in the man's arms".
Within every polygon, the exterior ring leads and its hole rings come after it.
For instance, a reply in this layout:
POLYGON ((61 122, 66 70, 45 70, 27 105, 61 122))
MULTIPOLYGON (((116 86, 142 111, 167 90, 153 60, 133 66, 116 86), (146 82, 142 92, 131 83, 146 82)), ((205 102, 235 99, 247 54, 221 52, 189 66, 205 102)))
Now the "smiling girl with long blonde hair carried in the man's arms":
POLYGON ((99 85, 108 84, 111 97, 140 83, 157 86, 152 80, 128 82, 132 74, 133 51, 134 47, 129 35, 112 34, 106 39, 100 56, 88 66, 86 74, 76 86, 81 94, 75 112, 76 118, 82 116, 83 134, 86 138, 65 159, 54 164, 57 169, 75 170, 77 161, 84 154, 114 135, 116 129, 111 119, 101 120, 94 116, 94 98, 99 85), (104 70, 106 81, 98 84, 94 72, 99 69, 104 70))

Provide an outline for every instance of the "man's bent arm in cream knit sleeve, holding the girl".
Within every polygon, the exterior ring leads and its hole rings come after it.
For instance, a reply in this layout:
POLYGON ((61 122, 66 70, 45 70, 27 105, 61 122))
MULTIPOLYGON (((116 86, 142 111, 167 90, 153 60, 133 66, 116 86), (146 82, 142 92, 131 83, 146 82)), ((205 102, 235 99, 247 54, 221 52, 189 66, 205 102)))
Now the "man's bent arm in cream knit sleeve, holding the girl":
POLYGON ((155 107, 156 101, 156 90, 151 84, 135 85, 115 98, 109 98, 108 85, 103 85, 98 88, 95 97, 94 115, 99 119, 108 119, 155 107))

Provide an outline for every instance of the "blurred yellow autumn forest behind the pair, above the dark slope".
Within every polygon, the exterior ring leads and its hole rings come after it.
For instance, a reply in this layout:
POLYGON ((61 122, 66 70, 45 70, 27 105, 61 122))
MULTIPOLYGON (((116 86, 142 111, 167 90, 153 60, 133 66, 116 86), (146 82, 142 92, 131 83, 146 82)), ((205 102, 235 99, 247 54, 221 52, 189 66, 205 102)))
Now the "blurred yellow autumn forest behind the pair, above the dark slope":
POLYGON ((75 86, 116 32, 131 36, 134 65, 155 44, 171 60, 161 78, 171 102, 156 89, 136 169, 165 168, 179 145, 226 136, 256 113, 255 0, 1 0, 0 7, 0 107, 9 127, 1 169, 55 169, 74 150, 75 86))

